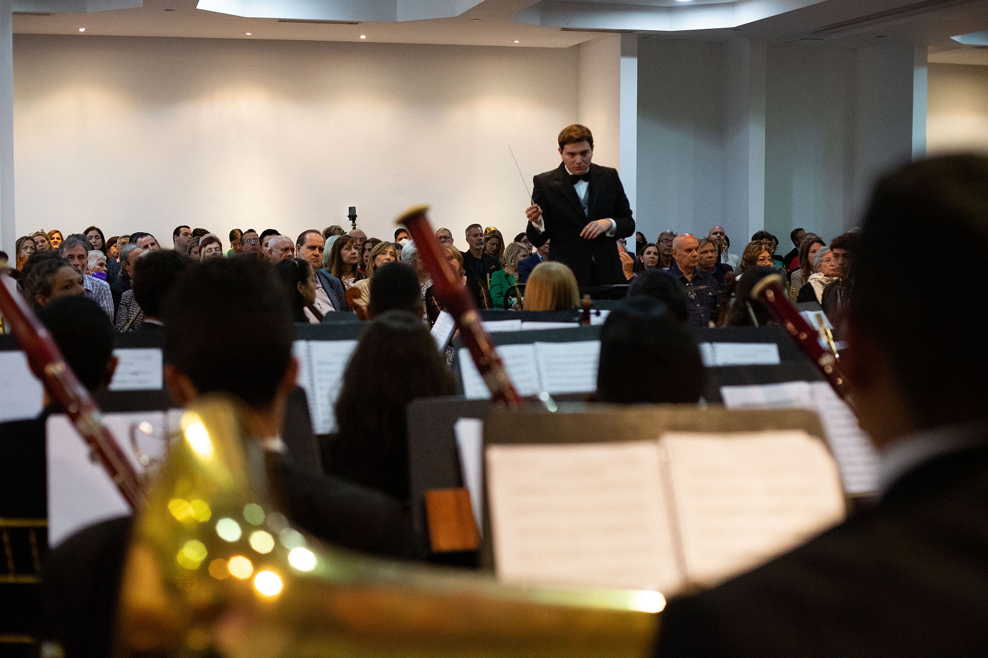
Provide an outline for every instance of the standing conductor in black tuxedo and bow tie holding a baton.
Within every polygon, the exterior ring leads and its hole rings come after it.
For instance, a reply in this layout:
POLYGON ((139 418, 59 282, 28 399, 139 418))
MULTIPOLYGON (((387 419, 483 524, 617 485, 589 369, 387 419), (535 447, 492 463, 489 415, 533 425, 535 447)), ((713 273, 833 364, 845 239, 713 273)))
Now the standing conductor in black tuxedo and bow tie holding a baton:
POLYGON ((558 142, 562 162, 535 176, 529 240, 552 240, 549 260, 567 265, 581 286, 623 284, 617 238, 634 233, 634 219, 617 170, 591 163, 594 135, 585 125, 563 128, 558 142))

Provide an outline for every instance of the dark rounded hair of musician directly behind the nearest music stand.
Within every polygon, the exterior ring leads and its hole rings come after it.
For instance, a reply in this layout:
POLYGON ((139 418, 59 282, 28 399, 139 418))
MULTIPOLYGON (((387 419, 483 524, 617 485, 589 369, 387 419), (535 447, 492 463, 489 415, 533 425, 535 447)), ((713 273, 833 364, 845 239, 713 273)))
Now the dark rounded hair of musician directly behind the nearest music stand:
POLYGON ((662 301, 628 297, 601 328, 597 397, 601 402, 700 400, 705 379, 697 341, 662 301))

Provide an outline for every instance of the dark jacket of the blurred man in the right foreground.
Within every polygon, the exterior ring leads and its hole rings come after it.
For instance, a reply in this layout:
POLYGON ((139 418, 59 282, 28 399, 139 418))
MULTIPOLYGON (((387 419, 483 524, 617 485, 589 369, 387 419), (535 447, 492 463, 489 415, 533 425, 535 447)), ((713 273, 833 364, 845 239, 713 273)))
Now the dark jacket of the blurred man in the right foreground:
POLYGON ((656 656, 988 655, 988 440, 662 614, 656 656))

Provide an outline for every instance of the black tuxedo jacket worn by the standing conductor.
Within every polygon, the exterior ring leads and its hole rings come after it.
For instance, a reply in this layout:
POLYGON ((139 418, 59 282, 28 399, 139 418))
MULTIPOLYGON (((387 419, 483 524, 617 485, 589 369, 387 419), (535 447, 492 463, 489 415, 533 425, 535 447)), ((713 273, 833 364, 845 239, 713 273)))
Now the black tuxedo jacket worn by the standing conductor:
POLYGON ((584 213, 580 198, 569 181, 569 173, 561 162, 556 169, 535 176, 532 201, 542 208, 539 231, 529 222, 529 241, 536 247, 549 244, 549 260, 569 266, 580 286, 626 283, 617 255, 617 238, 634 233, 631 206, 617 177, 617 169, 590 165, 590 187, 587 190, 588 213, 584 213), (614 219, 617 234, 601 235, 593 240, 580 237, 580 231, 594 219, 614 219))

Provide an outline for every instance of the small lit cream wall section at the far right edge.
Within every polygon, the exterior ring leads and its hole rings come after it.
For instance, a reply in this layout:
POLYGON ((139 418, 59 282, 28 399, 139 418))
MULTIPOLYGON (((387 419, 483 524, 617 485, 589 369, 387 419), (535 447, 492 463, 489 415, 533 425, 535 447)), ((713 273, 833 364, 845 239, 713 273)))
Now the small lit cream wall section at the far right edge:
POLYGON ((928 152, 988 151, 988 66, 929 66, 928 152))

